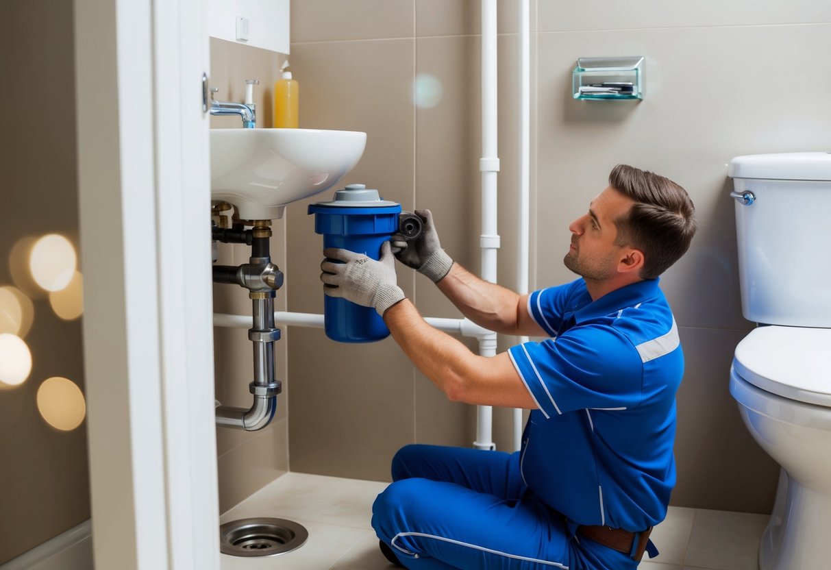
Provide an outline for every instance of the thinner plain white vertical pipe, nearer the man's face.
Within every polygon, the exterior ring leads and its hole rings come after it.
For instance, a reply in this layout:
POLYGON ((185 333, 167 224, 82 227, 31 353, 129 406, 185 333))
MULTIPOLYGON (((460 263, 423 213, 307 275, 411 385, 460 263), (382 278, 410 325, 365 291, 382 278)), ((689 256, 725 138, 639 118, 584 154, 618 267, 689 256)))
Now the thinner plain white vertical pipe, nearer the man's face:
MULTIPOLYGON (((528 292, 530 233, 531 139, 531 14, 529 0, 519 2, 519 255, 517 292, 528 292)), ((519 342, 528 342, 520 337, 519 342)), ((522 445, 522 410, 514 410, 514 450, 522 445)))

